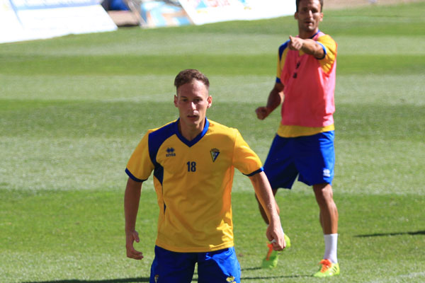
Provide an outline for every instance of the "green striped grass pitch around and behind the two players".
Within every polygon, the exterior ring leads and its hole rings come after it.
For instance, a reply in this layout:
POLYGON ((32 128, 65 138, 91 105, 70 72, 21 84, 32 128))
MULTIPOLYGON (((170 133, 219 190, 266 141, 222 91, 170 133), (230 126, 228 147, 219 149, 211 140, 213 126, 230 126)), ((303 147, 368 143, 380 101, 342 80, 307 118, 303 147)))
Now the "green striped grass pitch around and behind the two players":
MULTIPOLYGON (((336 176, 341 275, 330 282, 425 282, 425 2, 325 11, 339 44, 336 176)), ((0 45, 0 282, 149 282, 157 203, 142 191, 137 248, 125 258, 125 165, 147 129, 176 118, 173 80, 210 78, 208 117, 266 158, 278 111, 254 109, 274 82, 292 17, 73 35, 0 45)), ((232 197, 243 282, 310 277, 323 238, 311 189, 278 193, 293 247, 261 270, 265 226, 248 178, 232 197)))

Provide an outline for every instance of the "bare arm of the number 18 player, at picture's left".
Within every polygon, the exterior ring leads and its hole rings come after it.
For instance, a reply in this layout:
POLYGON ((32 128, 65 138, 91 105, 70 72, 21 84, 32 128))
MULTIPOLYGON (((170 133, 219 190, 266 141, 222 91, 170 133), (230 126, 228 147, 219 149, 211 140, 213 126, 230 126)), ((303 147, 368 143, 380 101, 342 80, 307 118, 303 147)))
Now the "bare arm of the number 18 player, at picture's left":
POLYGON ((140 242, 139 233, 135 230, 137 211, 139 210, 140 191, 142 182, 136 182, 128 178, 124 194, 124 213, 125 213, 125 249, 127 257, 141 260, 142 252, 135 250, 134 243, 140 242))

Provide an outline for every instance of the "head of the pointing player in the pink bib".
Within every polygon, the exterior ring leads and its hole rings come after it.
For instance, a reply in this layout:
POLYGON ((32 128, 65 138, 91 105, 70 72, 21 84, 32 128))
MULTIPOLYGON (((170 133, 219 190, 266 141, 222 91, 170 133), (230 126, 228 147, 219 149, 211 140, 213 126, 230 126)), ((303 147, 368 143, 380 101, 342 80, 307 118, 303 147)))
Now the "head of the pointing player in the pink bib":
POLYGON ((301 0, 298 4, 298 11, 295 19, 298 21, 300 35, 314 35, 319 30, 319 23, 323 20, 319 0, 301 0))

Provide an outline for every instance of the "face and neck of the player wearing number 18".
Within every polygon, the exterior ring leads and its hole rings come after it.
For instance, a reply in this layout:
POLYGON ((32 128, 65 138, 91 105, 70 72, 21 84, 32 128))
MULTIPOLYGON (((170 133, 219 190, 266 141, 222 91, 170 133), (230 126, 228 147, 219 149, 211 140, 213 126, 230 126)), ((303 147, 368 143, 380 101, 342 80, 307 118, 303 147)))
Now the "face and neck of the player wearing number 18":
POLYGON ((203 82, 193 80, 179 86, 177 96, 174 96, 174 105, 179 108, 181 127, 202 130, 211 103, 212 98, 203 82))

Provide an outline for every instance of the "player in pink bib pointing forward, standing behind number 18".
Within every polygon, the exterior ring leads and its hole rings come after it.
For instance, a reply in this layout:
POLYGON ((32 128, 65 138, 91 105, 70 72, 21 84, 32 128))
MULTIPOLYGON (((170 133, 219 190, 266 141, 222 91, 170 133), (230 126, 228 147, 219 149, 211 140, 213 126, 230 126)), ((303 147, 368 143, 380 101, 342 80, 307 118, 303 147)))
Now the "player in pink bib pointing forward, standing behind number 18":
MULTIPOLYGON (((299 35, 290 36, 279 47, 275 86, 267 105, 257 108, 256 115, 263 120, 283 102, 282 120, 264 171, 273 195, 279 187, 292 187, 297 175, 298 180, 312 185, 325 243, 322 268, 314 276, 329 277, 339 274, 338 211, 331 187, 335 159, 336 42, 319 30, 323 0, 296 0, 296 5, 299 35)), ((262 207, 260 211, 268 223, 262 207)), ((269 266, 276 266, 276 262, 269 266)))

